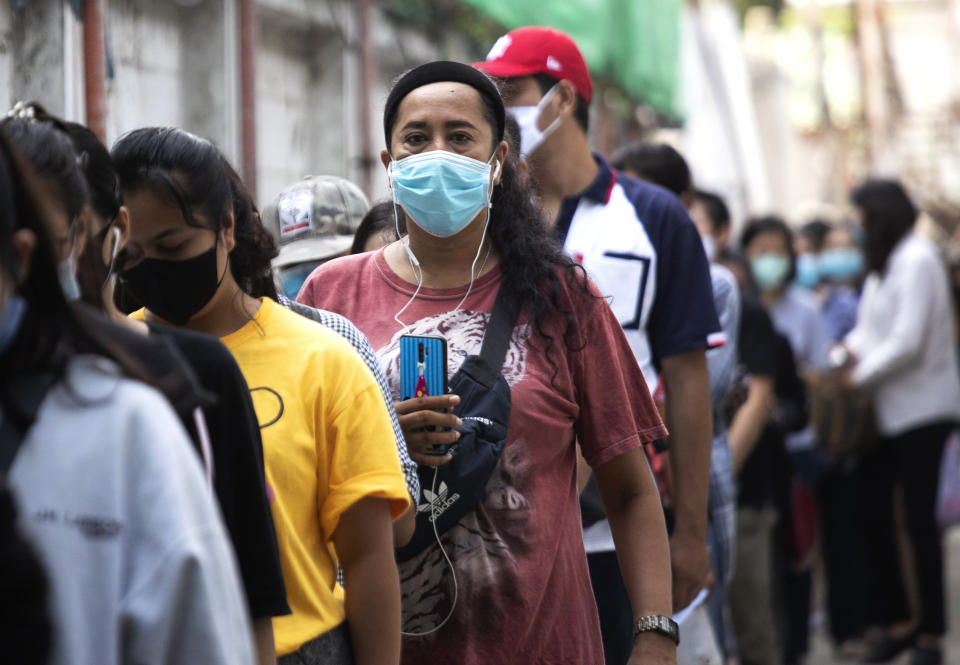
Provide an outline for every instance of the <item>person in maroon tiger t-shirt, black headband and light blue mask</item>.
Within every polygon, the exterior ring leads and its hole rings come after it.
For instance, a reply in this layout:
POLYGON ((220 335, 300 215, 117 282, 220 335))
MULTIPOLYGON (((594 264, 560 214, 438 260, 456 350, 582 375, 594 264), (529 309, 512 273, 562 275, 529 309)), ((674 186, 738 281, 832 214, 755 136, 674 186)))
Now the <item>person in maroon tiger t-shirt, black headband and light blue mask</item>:
MULTIPOLYGON (((671 610, 663 512, 642 448, 663 432, 659 416, 619 322, 520 184, 504 126, 500 94, 479 71, 433 62, 404 74, 384 109, 381 157, 406 235, 321 266, 299 295, 357 324, 397 400, 402 335, 443 336, 449 378, 480 351, 500 289, 521 305, 501 368, 512 403, 503 452, 475 507, 400 564, 404 663, 602 662, 578 452, 606 498, 636 617, 671 610)), ((421 464, 451 460, 428 453, 456 444, 461 422, 448 410, 458 400, 398 402, 421 464)), ((420 510, 437 495, 460 500, 431 490, 420 510)), ((674 642, 644 629, 631 662, 673 663, 674 642)))

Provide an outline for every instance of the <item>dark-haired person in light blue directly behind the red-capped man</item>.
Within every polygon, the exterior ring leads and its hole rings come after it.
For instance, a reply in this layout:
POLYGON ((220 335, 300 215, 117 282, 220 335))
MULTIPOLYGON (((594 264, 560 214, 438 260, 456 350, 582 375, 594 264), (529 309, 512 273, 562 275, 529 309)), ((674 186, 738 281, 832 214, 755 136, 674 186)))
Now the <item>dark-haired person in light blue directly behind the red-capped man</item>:
MULTIPOLYGON (((727 441, 727 426, 720 417, 720 406, 726 400, 733 385, 737 364, 737 336, 740 330, 740 289, 729 270, 713 263, 716 245, 713 222, 693 189, 690 168, 686 160, 673 147, 665 143, 634 143, 624 146, 613 157, 613 166, 635 178, 641 178, 672 192, 691 214, 704 253, 710 263, 710 281, 713 288, 713 304, 720 319, 723 339, 716 338, 707 351, 707 367, 710 371, 710 401, 713 406, 713 449, 710 456, 710 524, 707 529, 707 544, 715 578, 708 606, 690 616, 681 628, 681 646, 677 661, 705 663, 703 649, 709 653, 712 638, 716 639, 726 659, 736 658, 734 644, 727 645, 727 633, 723 620, 726 605, 726 584, 733 573, 734 537, 736 533, 736 496, 733 486, 733 467, 727 441), (713 636, 698 633, 699 612, 709 607, 713 636), (686 640, 686 645, 684 641, 686 640), (691 646, 691 644, 693 646, 691 646), (698 654, 699 651, 699 654, 698 654)), ((723 205, 723 202, 720 202, 723 205)), ((716 648, 716 647, 715 647, 716 648)), ((717 660, 719 662, 719 660, 717 660)))

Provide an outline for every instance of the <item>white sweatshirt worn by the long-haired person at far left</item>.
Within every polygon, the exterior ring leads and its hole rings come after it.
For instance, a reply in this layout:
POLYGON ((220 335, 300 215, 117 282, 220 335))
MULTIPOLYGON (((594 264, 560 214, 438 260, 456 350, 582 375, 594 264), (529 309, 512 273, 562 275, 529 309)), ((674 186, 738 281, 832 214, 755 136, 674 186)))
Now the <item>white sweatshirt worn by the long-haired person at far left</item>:
POLYGON ((74 359, 9 484, 50 578, 52 663, 253 663, 229 541, 156 391, 102 359, 74 359))

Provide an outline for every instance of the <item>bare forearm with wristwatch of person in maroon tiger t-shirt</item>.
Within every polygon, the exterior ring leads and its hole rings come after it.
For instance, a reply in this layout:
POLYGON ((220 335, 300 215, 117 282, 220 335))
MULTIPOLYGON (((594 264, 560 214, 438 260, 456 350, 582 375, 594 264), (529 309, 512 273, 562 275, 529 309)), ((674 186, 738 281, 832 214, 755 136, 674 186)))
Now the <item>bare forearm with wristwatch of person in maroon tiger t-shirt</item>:
MULTIPOLYGON (((617 560, 634 619, 671 614, 670 553, 660 496, 643 448, 619 455, 594 469, 610 521, 617 560)), ((642 633, 630 663, 676 663, 676 647, 667 637, 642 633)))

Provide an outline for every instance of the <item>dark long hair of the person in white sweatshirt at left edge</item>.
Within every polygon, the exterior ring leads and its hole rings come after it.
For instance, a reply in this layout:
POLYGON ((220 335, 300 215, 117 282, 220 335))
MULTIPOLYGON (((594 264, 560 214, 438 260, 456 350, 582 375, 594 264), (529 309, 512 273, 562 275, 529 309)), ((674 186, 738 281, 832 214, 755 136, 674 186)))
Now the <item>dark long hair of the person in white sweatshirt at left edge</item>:
POLYGON ((15 292, 27 302, 16 338, 0 357, 0 409, 25 431, 32 414, 18 399, 18 381, 36 372, 62 378, 76 353, 93 353, 119 365, 127 376, 150 382, 139 364, 98 330, 86 326, 64 297, 57 277, 57 256, 47 218, 52 201, 29 162, 0 132, 0 269, 15 280, 15 292), (30 269, 21 274, 13 247, 14 233, 26 229, 37 238, 30 269))

